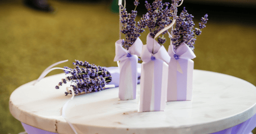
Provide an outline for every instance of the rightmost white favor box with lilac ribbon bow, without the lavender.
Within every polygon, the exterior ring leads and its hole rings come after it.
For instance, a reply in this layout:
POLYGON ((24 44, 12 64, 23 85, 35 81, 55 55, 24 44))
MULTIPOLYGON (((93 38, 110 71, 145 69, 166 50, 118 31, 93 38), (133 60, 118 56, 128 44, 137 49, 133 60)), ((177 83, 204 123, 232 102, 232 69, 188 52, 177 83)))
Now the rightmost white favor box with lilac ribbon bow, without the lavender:
POLYGON ((195 58, 194 52, 182 43, 174 52, 169 45, 167 101, 190 101, 192 99, 192 80, 195 58))

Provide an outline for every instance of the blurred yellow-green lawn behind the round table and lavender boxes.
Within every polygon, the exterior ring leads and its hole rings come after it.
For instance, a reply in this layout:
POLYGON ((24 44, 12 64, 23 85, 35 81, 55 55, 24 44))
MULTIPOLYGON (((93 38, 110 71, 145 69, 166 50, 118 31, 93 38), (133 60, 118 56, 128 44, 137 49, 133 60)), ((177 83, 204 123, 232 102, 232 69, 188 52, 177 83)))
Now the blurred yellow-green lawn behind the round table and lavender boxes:
MULTIPOLYGON (((50 3, 58 8, 54 14, 29 9, 19 1, 0 4, 0 133, 24 131, 9 112, 9 97, 17 87, 37 79, 50 64, 69 59, 58 66, 72 67, 78 59, 117 65, 113 58, 119 16, 109 11, 109 3, 50 3)), ((195 19, 198 22, 200 18, 195 19)), ((194 68, 256 85, 255 30, 254 24, 222 22, 209 15, 207 27, 196 41, 194 68)), ((144 43, 146 36, 144 32, 140 37, 144 43)), ((164 46, 167 49, 168 41, 164 46)), ((62 71, 49 75, 59 73, 62 71)))

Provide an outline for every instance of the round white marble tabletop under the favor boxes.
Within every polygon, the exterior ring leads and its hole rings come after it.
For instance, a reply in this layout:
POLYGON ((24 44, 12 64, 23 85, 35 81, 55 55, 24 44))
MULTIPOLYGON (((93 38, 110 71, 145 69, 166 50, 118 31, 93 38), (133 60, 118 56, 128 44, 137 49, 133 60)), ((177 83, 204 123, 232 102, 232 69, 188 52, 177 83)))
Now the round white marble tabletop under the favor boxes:
MULTIPOLYGON (((65 74, 17 88, 10 97, 11 114, 30 126, 74 133, 62 117, 71 95, 55 89, 65 74)), ((118 88, 75 96, 65 115, 77 133, 213 133, 236 126, 256 113, 256 87, 229 75, 194 70, 192 101, 167 102, 165 111, 138 113, 137 99, 120 101, 118 88)), ((255 116, 256 117, 256 116, 255 116)))

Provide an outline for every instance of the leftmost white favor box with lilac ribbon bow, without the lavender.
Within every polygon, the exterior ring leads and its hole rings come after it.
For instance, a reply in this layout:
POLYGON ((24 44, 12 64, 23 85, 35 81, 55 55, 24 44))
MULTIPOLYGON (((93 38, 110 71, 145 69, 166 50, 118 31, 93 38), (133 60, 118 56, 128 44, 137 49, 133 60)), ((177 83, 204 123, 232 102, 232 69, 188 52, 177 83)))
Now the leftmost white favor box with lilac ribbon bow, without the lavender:
POLYGON ((119 98, 121 100, 136 98, 137 62, 143 43, 139 38, 128 50, 122 47, 122 40, 116 42, 116 56, 114 61, 120 61, 119 98))

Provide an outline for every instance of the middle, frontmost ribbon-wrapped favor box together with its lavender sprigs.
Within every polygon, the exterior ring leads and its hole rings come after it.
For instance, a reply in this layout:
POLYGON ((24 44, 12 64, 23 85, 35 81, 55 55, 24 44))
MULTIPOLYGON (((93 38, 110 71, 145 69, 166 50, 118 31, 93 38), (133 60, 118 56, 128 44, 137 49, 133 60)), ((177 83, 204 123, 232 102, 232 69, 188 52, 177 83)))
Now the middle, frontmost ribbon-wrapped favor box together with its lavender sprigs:
POLYGON ((141 52, 141 79, 139 112, 163 111, 166 105, 167 73, 170 56, 162 46, 166 39, 157 37, 159 33, 167 33, 165 27, 173 25, 175 20, 175 7, 169 3, 156 0, 153 4, 146 1, 147 14, 138 22, 149 28, 147 45, 143 46, 141 52), (164 31, 163 31, 164 30, 164 31), (155 40, 157 38, 157 41, 155 40))

